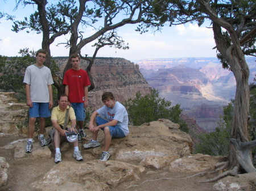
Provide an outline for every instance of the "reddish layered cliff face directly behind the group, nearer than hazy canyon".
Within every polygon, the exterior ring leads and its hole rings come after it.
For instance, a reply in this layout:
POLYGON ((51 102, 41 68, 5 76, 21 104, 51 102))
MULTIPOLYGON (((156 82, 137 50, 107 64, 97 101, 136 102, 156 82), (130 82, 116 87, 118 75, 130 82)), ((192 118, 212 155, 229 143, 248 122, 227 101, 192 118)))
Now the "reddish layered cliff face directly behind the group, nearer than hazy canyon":
MULTIPOLYGON (((68 58, 54 58, 60 67, 61 78, 68 58)), ((81 68, 86 70, 88 62, 81 60, 81 68)), ((138 91, 142 95, 150 93, 151 87, 139 71, 139 66, 124 58, 97 58, 92 66, 91 74, 95 88, 89 92, 90 107, 102 106, 101 95, 104 91, 113 92, 115 99, 123 103, 135 97, 138 91)))

